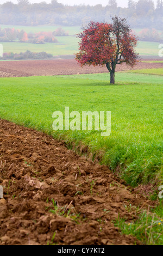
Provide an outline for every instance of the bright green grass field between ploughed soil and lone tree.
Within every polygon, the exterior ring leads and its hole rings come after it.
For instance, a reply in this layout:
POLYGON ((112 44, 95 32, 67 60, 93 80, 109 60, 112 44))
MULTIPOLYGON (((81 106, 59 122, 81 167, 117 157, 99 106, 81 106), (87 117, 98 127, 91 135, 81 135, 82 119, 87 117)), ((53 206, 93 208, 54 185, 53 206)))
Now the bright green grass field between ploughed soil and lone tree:
POLYGON ((0 117, 85 145, 128 184, 162 183, 162 83, 160 76, 109 74, 1 78, 0 117), (52 129, 54 111, 111 111, 111 135, 98 131, 52 129))

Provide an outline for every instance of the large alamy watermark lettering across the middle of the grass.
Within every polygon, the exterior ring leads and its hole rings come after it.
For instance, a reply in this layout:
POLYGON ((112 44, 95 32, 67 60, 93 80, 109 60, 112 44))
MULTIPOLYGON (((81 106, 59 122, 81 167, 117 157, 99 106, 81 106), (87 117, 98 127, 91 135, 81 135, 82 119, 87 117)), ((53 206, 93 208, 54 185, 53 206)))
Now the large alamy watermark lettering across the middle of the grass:
POLYGON ((101 136, 109 136, 111 133, 111 111, 82 111, 82 116, 78 111, 70 113, 69 107, 65 107, 65 113, 55 111, 52 115, 54 131, 102 131, 101 136), (72 119, 72 120, 70 120, 72 119))

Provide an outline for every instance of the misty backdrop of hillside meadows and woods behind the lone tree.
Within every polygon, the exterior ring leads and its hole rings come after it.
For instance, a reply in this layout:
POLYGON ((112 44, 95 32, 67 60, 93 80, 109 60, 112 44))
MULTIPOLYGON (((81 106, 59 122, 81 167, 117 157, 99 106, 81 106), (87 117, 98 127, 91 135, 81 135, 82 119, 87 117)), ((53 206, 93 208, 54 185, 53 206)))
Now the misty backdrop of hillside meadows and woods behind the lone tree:
POLYGON ((102 4, 98 0, 82 1, 1 0, 2 58, 71 56, 78 51, 76 35, 83 27, 90 21, 111 23, 115 15, 126 18, 133 33, 143 42, 139 48, 142 54, 157 54, 158 44, 163 43, 162 0, 104 0, 102 4), (148 47, 147 42, 150 42, 148 47))

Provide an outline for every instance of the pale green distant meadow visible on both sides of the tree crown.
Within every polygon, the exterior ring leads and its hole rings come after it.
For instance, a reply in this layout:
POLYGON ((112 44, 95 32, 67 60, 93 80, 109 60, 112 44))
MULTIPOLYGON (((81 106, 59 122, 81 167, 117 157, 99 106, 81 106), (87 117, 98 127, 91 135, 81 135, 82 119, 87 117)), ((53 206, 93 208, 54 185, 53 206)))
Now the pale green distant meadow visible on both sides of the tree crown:
MULTIPOLYGON (((12 28, 11 25, 0 25, 3 28, 12 28)), ((27 33, 33 32, 41 32, 41 31, 54 31, 60 26, 14 26, 15 29, 23 29, 27 33)), ((62 26, 61 26, 62 27, 62 26)), ((29 44, 29 43, 22 43, 22 42, 0 42, 3 44, 4 52, 26 52, 27 50, 32 52, 42 52, 45 51, 47 53, 51 53, 54 56, 58 55, 71 55, 78 52, 78 39, 76 36, 72 36, 74 34, 79 33, 82 31, 80 26, 73 26, 73 27, 62 27, 66 32, 69 33, 70 36, 56 36, 58 43, 51 44, 46 43, 43 45, 39 44, 29 44)), ((139 45, 136 48, 136 51, 143 56, 158 56, 159 54, 159 43, 158 42, 146 42, 140 41, 139 45)))

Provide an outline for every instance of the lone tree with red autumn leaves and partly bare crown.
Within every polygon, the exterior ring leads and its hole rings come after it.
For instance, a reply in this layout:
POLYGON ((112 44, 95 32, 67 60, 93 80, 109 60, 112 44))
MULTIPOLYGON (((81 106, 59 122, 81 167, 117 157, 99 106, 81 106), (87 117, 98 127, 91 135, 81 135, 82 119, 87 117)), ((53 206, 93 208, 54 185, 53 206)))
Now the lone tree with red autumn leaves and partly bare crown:
POLYGON ((133 67, 139 61, 139 54, 134 51, 137 39, 126 19, 112 17, 112 24, 91 21, 77 37, 81 40, 76 60, 81 66, 106 65, 111 84, 115 83, 117 64, 126 63, 133 67))

